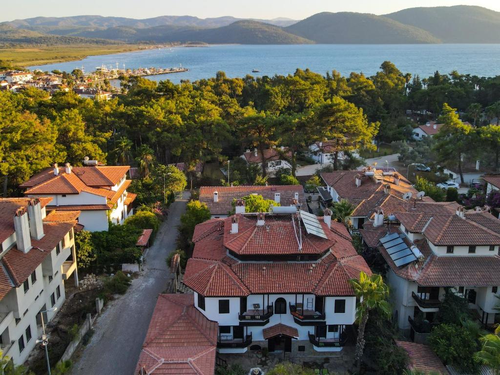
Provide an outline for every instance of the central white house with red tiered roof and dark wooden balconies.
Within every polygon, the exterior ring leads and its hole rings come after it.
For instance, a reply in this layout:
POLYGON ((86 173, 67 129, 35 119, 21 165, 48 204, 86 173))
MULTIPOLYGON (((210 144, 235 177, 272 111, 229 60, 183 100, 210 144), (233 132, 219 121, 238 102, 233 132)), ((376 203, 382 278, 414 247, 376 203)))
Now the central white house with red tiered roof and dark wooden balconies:
POLYGON ((194 230, 182 282, 194 306, 218 323, 219 352, 339 351, 353 338, 349 279, 370 270, 331 212, 296 206, 210 219, 194 230))

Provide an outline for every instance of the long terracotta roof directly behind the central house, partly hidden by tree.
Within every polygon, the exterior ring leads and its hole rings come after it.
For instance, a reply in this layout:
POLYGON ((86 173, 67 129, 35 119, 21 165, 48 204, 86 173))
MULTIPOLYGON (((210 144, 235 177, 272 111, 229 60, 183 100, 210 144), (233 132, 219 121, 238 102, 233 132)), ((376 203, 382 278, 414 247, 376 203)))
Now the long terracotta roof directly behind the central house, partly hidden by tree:
POLYGON ((289 205, 298 192, 298 202, 305 204, 304 189, 301 185, 269 185, 269 186, 201 186, 199 201, 205 203, 212 215, 227 215, 232 210, 234 199, 250 194, 262 195, 265 199, 274 200, 274 193, 280 193, 280 204, 289 205), (217 190, 218 201, 213 201, 213 192, 217 190))

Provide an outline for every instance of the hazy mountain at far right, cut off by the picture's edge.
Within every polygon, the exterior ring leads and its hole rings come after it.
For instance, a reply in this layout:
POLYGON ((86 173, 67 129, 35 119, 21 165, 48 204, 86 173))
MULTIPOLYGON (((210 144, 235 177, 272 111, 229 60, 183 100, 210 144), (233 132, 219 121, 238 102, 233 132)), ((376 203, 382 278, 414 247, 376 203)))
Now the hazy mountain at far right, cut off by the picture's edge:
POLYGON ((443 43, 500 43, 500 12, 480 6, 410 8, 385 16, 423 28, 443 43))

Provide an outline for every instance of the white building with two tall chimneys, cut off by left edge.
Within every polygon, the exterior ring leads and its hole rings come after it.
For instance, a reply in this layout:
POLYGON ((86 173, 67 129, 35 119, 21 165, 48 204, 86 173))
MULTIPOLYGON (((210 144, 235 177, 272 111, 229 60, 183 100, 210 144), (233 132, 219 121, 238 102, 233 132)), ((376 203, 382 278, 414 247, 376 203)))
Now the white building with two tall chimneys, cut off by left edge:
POLYGON ((0 199, 0 348, 24 362, 65 299, 64 281, 78 284, 73 228, 78 211, 47 212, 51 198, 0 199), (43 312, 47 311, 47 312, 43 312))

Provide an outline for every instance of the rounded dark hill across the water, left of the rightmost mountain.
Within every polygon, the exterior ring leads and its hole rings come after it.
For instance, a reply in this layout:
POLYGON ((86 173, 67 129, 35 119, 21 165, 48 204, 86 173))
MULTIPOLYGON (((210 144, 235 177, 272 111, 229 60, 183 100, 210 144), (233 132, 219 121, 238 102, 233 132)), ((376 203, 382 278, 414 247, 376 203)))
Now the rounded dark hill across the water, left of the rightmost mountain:
POLYGON ((316 43, 439 43, 428 31, 380 15, 317 13, 284 28, 316 43))

